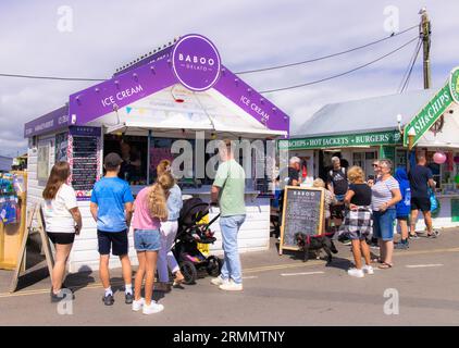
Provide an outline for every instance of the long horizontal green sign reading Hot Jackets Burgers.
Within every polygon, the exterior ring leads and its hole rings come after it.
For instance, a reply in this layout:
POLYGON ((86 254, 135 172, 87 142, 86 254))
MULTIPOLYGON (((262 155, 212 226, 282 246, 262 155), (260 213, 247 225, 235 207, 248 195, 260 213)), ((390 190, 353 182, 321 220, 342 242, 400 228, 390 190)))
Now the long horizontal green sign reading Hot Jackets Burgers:
POLYGON ((389 130, 365 134, 335 135, 326 137, 280 140, 278 148, 289 150, 302 150, 398 144, 401 145, 400 133, 397 130, 389 130))

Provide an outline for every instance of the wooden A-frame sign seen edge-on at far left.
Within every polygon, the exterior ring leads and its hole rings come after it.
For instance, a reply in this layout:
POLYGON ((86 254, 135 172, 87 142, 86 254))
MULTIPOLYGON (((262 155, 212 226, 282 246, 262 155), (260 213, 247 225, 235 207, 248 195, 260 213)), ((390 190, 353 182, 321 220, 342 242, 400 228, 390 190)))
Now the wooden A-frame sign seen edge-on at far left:
POLYGON ((45 232, 45 220, 44 220, 41 207, 40 204, 35 204, 34 208, 30 211, 28 211, 26 232, 23 237, 22 245, 17 254, 17 264, 13 273, 13 278, 11 279, 10 293, 14 293, 16 290, 20 276, 25 271, 25 251, 26 251, 27 239, 32 233, 32 223, 34 221, 34 216, 36 216, 37 222, 38 222, 38 233, 40 234, 41 246, 42 246, 42 249, 45 250, 45 258, 48 265, 49 277, 52 282, 52 269, 54 266, 54 259, 52 257, 51 246, 49 244, 48 236, 45 232))

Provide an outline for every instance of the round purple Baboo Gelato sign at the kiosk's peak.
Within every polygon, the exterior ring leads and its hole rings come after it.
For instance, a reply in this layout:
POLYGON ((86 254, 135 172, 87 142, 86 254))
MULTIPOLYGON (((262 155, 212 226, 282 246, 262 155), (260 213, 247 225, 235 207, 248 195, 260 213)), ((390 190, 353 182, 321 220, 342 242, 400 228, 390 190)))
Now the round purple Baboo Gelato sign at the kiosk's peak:
POLYGON ((201 35, 182 37, 172 51, 172 69, 186 88, 202 91, 220 77, 221 60, 215 46, 201 35))

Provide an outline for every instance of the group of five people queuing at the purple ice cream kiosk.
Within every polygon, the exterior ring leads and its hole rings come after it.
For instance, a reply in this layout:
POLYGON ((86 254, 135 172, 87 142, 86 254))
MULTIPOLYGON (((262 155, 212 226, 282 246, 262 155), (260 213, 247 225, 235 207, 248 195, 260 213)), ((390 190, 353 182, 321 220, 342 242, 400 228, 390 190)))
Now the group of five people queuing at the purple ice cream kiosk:
MULTIPOLYGON (((211 203, 220 207, 220 226, 223 239, 224 262, 221 274, 211 281, 222 290, 243 290, 241 265, 237 248, 237 235, 246 217, 245 172, 234 160, 230 140, 221 146, 222 163, 219 166, 211 191, 211 203)), ((104 288, 102 301, 114 303, 110 285, 110 254, 120 258, 125 289, 125 303, 133 311, 144 314, 161 312, 164 307, 152 299, 154 273, 158 271, 159 288, 168 291, 169 271, 174 275, 173 285, 185 277, 171 251, 177 233, 177 220, 182 209, 182 191, 171 173, 171 162, 163 160, 157 167, 158 178, 145 187, 134 199, 129 185, 119 177, 123 159, 117 153, 104 158, 106 175, 94 186, 90 211, 97 223, 99 275, 104 288), (134 229, 134 247, 138 269, 134 288, 132 265, 128 258, 128 232, 134 229), (145 297, 141 287, 145 282, 145 297)), ((42 212, 46 232, 55 248, 52 271, 51 302, 61 301, 71 293, 64 290, 63 278, 75 236, 82 231, 82 214, 77 208, 74 189, 66 183, 70 165, 58 162, 53 165, 42 192, 42 212)), ((74 295, 71 295, 74 297, 74 295)))

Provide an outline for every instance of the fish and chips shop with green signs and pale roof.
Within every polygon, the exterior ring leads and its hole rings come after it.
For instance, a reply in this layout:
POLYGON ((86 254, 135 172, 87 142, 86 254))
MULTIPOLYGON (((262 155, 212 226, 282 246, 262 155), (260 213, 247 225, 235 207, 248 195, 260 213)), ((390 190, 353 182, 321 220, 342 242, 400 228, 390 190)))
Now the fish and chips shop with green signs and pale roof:
MULTIPOLYGON (((395 167, 409 170, 415 154, 423 153, 437 183, 434 227, 459 226, 458 76, 456 69, 439 90, 325 105, 289 139, 280 140, 278 148, 303 160, 305 185, 314 177, 326 179, 333 156, 343 166, 361 166, 372 178, 375 159, 390 159, 395 167)), ((424 227, 419 219, 417 228, 424 227)))

